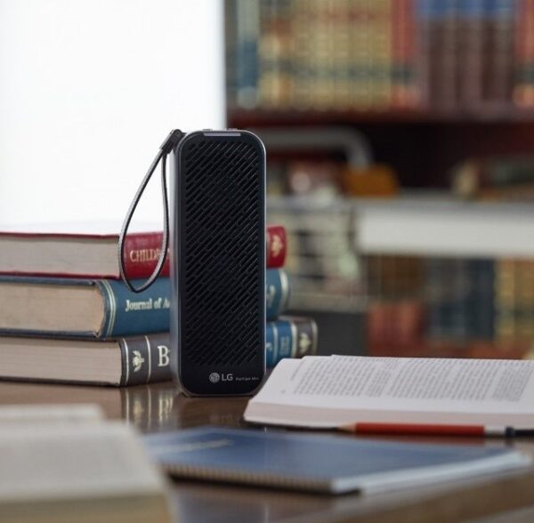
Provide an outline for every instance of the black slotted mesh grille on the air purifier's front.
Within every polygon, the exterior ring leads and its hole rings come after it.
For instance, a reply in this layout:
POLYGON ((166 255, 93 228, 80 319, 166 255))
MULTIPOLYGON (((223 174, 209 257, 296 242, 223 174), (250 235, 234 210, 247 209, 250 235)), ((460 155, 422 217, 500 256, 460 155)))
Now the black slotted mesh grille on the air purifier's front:
POLYGON ((263 158, 231 140, 193 141, 182 157, 183 357, 196 366, 252 363, 263 354, 263 158))

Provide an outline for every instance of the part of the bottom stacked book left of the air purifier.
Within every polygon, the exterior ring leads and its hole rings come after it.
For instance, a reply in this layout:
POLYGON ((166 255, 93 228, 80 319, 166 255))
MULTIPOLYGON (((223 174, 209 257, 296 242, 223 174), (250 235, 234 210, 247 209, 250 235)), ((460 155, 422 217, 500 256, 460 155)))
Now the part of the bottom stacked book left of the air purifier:
POLYGON ((0 336, 0 379, 128 386, 166 382, 169 334, 113 340, 0 336))

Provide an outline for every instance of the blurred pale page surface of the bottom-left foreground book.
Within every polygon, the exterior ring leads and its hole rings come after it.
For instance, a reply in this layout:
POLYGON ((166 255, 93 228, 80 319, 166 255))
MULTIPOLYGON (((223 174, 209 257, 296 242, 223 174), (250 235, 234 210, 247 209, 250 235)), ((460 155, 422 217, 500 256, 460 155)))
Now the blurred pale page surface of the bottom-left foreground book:
POLYGON ((0 430, 0 504, 163 492, 134 430, 120 422, 0 430))

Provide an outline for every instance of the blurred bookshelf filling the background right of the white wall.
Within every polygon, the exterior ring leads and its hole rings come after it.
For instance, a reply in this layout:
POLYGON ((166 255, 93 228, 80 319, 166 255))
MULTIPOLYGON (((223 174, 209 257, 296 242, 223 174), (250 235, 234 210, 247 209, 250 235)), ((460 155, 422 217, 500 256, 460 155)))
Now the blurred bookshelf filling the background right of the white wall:
POLYGON ((527 357, 534 0, 227 0, 225 34, 320 352, 527 357))

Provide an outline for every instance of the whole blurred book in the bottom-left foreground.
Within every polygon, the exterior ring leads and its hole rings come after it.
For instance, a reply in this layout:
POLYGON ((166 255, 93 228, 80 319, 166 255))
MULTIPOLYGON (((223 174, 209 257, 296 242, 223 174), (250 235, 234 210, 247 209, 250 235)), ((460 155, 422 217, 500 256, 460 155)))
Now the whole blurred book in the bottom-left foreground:
POLYGON ((171 521, 165 481, 132 427, 77 406, 17 410, 13 421, 0 407, 4 523, 171 521))

